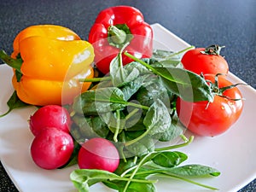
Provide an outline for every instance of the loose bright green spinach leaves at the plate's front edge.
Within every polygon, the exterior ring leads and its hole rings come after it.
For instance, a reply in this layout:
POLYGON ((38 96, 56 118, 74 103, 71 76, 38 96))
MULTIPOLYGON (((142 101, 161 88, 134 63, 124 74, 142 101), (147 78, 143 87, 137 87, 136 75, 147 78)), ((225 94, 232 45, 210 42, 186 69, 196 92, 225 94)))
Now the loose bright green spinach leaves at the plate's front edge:
POLYGON ((90 186, 99 182, 119 192, 155 192, 154 183, 157 180, 148 179, 150 176, 181 179, 207 189, 217 190, 214 187, 197 183, 189 177, 217 177, 220 172, 212 167, 196 164, 179 166, 187 158, 186 154, 178 151, 155 151, 144 154, 140 158, 121 160, 119 168, 114 173, 78 169, 71 173, 70 178, 79 192, 89 192, 90 186))

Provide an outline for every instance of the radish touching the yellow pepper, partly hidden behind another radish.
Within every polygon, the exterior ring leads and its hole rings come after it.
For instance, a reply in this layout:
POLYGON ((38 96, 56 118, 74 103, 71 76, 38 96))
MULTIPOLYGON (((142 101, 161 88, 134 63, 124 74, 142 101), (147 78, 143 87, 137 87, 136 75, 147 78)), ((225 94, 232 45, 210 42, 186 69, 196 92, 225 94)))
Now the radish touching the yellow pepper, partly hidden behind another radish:
POLYGON ((70 114, 66 108, 59 105, 47 105, 39 108, 29 120, 30 130, 34 136, 37 136, 45 127, 55 127, 68 133, 70 125, 70 114))

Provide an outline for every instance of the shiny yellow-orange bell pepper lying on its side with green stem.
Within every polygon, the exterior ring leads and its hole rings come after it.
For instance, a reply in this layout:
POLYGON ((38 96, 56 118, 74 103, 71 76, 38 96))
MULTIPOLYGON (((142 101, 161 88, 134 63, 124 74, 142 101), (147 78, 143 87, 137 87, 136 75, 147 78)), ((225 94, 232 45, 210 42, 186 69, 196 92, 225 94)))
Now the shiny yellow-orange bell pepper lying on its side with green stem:
POLYGON ((11 57, 0 57, 14 67, 17 96, 32 105, 72 103, 90 86, 79 79, 94 76, 92 45, 63 26, 29 26, 16 36, 11 57))

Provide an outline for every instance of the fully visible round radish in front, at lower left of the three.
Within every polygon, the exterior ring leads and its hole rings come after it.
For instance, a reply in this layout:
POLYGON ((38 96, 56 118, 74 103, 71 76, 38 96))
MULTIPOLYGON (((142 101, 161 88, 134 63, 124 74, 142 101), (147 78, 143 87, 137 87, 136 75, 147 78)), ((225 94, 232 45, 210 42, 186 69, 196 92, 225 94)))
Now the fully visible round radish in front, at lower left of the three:
POLYGON ((41 131, 32 141, 34 162, 44 169, 56 169, 67 163, 73 153, 73 138, 54 127, 41 131))

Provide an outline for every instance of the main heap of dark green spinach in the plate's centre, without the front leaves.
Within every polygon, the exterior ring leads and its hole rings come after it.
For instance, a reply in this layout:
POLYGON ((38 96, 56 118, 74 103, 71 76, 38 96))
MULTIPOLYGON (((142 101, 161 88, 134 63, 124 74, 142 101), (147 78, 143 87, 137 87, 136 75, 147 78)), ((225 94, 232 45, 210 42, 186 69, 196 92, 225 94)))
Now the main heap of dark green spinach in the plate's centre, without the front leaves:
POLYGON ((175 115, 177 96, 212 101, 212 92, 205 79, 179 67, 176 54, 156 50, 152 58, 134 58, 125 67, 121 54, 111 62, 108 77, 75 98, 72 134, 79 143, 108 138, 125 158, 152 152, 155 141, 182 134, 175 115))

